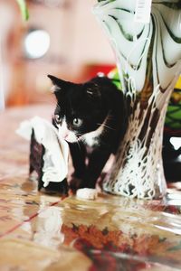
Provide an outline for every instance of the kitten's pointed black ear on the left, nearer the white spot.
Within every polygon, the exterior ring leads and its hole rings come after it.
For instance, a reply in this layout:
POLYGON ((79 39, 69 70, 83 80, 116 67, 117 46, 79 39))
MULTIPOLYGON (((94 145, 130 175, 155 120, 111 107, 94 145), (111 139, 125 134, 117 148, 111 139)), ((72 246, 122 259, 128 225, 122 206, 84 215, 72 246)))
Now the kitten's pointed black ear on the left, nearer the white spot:
POLYGON ((52 76, 50 74, 47 75, 48 78, 50 78, 52 80, 52 92, 56 95, 66 89, 71 88, 74 84, 62 79, 59 79, 55 76, 52 76))

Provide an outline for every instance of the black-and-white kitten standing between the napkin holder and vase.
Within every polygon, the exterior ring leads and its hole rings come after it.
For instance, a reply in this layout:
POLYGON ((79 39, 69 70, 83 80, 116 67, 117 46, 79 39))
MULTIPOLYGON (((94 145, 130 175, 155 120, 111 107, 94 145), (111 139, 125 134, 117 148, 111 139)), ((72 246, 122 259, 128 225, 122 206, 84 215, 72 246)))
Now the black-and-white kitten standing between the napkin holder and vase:
POLYGON ((82 84, 48 77, 57 99, 52 123, 69 143, 74 177, 81 179, 81 188, 95 188, 126 129, 123 94, 107 77, 82 84))

